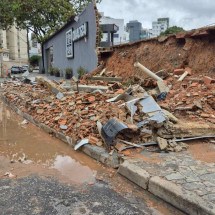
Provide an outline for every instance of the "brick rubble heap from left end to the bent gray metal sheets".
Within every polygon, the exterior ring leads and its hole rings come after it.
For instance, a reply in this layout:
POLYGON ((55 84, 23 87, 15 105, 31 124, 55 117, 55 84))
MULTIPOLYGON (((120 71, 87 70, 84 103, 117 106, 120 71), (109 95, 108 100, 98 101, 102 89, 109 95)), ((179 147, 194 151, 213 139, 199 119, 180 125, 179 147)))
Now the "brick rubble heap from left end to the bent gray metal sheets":
POLYGON ((121 89, 121 94, 118 94, 119 85, 113 84, 115 94, 111 91, 111 94, 73 92, 70 95, 50 94, 44 84, 8 82, 4 87, 4 96, 36 121, 77 142, 88 139, 97 146, 105 143, 109 150, 118 140, 131 144, 153 141, 157 129, 168 122, 159 105, 139 85, 121 89))

